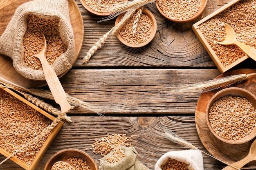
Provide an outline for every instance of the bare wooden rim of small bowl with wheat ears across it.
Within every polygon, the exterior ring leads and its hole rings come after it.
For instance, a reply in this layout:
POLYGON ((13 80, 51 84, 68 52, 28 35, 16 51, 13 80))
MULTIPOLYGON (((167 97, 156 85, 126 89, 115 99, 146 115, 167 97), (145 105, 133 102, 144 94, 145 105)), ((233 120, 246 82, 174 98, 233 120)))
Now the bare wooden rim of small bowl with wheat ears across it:
MULTIPOLYGON (((150 31, 151 31, 151 33, 150 33, 150 38, 148 38, 148 40, 147 40, 146 42, 141 43, 141 44, 130 44, 129 42, 126 42, 126 41, 121 37, 121 35, 120 35, 119 33, 117 33, 117 38, 118 38, 118 40, 119 40, 121 43, 123 43, 124 45, 130 46, 130 47, 133 47, 133 48, 139 48, 139 47, 145 46, 145 45, 147 45, 148 43, 150 43, 150 42, 153 40, 153 38, 155 37, 155 34, 156 34, 156 32, 157 32, 157 22, 156 22, 156 20, 155 20, 155 16, 154 16, 150 11, 148 11, 147 9, 144 9, 144 10, 142 11, 142 13, 143 13, 144 15, 147 15, 148 18, 149 18, 149 20, 152 22, 152 26, 150 27, 150 31)), ((124 13, 120 14, 120 15, 117 17, 117 19, 116 19, 116 21, 115 21, 115 25, 118 24, 120 18, 121 18, 123 15, 124 15, 124 13)))

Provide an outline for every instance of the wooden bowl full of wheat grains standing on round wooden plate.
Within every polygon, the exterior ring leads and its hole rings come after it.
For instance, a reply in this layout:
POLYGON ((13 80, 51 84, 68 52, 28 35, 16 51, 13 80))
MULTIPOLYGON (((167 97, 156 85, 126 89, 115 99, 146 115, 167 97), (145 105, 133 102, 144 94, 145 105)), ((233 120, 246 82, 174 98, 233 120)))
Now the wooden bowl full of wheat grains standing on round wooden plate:
POLYGON ((222 89, 207 104, 207 125, 221 141, 243 144, 256 136, 255 108, 253 93, 238 87, 222 89))

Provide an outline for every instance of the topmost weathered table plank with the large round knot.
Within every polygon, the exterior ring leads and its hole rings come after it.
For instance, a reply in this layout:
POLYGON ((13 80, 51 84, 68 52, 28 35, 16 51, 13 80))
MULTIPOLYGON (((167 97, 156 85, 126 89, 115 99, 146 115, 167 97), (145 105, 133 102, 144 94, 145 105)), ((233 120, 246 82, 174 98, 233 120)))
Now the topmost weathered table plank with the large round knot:
POLYGON ((114 36, 94 53, 87 64, 82 64, 83 57, 93 44, 114 26, 115 21, 97 23, 101 17, 92 15, 78 2, 84 18, 85 37, 82 51, 74 66, 213 67, 215 64, 191 28, 202 17, 209 15, 229 1, 207 2, 204 12, 197 19, 186 23, 171 22, 159 13, 155 3, 148 4, 146 8, 157 20, 157 33, 150 44, 134 49, 125 46, 114 36))

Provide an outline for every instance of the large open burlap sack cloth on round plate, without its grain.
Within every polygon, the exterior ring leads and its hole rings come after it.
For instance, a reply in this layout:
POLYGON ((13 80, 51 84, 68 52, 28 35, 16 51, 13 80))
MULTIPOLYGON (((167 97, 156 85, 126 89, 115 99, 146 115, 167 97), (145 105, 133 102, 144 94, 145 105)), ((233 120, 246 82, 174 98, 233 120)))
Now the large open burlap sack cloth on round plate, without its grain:
POLYGON ((27 29, 27 16, 36 15, 43 19, 58 19, 58 31, 66 48, 52 64, 56 75, 72 67, 75 42, 69 16, 68 0, 32 0, 20 5, 4 33, 0 37, 0 53, 12 58, 13 67, 28 79, 44 80, 43 69, 34 69, 24 62, 23 38, 27 29))

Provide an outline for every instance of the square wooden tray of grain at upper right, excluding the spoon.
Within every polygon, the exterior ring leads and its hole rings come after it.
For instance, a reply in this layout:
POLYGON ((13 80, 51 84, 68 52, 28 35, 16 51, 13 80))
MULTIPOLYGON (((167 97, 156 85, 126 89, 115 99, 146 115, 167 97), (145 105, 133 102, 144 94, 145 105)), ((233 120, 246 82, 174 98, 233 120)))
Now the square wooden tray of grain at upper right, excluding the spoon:
POLYGON ((222 22, 226 22, 234 29, 238 41, 256 48, 254 4, 255 0, 233 0, 192 26, 220 73, 228 71, 248 58, 236 45, 224 46, 215 42, 225 39, 225 26, 222 22))

